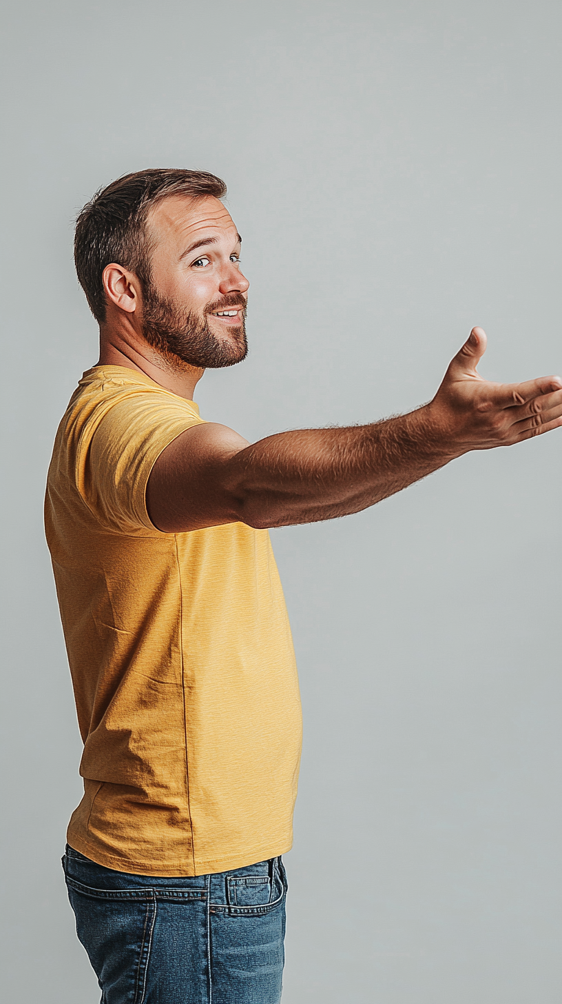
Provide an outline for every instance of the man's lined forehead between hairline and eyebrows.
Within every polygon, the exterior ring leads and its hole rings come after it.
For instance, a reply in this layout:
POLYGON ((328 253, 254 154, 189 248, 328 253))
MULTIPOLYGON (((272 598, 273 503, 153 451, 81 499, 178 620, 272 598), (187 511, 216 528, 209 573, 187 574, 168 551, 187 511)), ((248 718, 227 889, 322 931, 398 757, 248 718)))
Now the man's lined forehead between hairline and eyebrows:
POLYGON ((237 233, 228 209, 214 196, 203 199, 169 196, 153 207, 147 223, 159 243, 185 244, 208 233, 215 237, 237 233))

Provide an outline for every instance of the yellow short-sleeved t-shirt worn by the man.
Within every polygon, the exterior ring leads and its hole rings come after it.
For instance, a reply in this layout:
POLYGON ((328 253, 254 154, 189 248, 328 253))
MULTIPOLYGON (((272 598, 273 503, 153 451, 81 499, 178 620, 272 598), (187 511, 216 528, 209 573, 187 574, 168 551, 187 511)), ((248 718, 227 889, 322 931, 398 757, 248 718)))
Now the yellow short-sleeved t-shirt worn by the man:
POLYGON ((163 533, 145 491, 197 405, 122 366, 84 373, 59 426, 45 525, 84 742, 68 843, 154 875, 291 846, 301 716, 267 530, 163 533))

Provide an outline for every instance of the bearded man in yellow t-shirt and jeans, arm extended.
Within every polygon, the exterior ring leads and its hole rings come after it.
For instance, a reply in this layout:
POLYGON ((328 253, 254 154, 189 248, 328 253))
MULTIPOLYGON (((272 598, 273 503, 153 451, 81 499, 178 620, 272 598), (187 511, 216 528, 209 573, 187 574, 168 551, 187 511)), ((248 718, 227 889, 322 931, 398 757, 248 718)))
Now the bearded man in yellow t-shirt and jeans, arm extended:
POLYGON ((300 753, 268 527, 357 512, 470 450, 562 425, 562 381, 491 384, 481 328, 433 401, 250 446, 200 418, 247 351, 213 175, 145 171, 78 217, 100 354, 54 446, 46 532, 84 752, 63 858, 105 1004, 273 1004, 300 753))

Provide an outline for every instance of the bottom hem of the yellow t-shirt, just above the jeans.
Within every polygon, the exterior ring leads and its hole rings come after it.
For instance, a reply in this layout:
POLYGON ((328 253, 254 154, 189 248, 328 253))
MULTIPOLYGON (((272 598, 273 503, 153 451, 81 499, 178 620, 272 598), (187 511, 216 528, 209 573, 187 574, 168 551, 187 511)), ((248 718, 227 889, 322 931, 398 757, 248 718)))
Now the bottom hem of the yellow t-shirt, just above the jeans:
POLYGON ((74 833, 67 833, 66 839, 68 845, 73 850, 77 850, 78 853, 83 854, 94 861, 95 864, 100 864, 102 867, 111 868, 113 871, 124 871, 126 874, 155 875, 158 878, 179 878, 182 876, 193 878, 197 875, 231 871, 233 868, 243 868, 250 864, 256 864, 258 861, 269 860, 270 857, 280 857, 281 854, 288 853, 293 845, 292 839, 279 842, 272 841, 271 843, 254 845, 238 854, 227 854, 221 857, 210 858, 196 857, 195 867, 190 852, 191 861, 182 868, 177 865, 163 867, 162 864, 157 865, 146 860, 123 860, 122 857, 105 853, 99 849, 97 844, 90 844, 87 840, 82 839, 82 837, 74 833))

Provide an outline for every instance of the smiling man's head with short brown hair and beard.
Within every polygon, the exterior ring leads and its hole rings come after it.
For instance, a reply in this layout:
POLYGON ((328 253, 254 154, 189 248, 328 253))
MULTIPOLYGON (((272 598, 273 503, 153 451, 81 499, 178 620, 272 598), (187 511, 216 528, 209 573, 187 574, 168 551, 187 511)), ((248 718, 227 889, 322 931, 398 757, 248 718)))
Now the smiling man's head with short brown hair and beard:
POLYGON ((102 330, 128 325, 178 369, 245 357, 249 283, 225 194, 215 175, 150 170, 118 179, 84 206, 74 259, 102 330))

